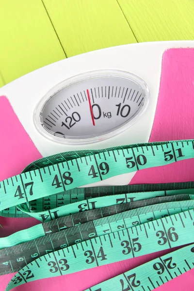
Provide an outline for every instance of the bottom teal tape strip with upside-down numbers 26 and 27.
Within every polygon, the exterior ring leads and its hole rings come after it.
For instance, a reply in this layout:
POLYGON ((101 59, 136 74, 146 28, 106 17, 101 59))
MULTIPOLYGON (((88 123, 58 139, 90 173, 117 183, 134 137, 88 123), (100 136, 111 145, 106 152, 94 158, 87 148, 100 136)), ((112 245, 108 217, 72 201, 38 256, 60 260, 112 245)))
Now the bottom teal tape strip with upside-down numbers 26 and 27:
POLYGON ((194 244, 153 259, 86 291, 151 291, 194 268, 194 244))

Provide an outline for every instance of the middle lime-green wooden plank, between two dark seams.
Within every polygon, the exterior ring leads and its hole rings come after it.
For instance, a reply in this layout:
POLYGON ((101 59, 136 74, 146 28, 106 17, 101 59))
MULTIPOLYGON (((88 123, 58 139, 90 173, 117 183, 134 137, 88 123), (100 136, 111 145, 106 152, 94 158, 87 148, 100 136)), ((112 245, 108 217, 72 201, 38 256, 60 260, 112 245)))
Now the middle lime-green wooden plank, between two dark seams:
POLYGON ((116 0, 43 0, 67 57, 136 42, 116 0))

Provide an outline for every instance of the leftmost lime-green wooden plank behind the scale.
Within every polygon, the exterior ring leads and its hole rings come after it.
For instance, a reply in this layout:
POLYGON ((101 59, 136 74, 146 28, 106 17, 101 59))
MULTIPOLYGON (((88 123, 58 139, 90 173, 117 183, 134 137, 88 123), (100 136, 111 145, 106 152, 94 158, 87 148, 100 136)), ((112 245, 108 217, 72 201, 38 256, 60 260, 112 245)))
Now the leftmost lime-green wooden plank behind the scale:
POLYGON ((41 0, 0 1, 0 44, 6 83, 65 58, 41 0))

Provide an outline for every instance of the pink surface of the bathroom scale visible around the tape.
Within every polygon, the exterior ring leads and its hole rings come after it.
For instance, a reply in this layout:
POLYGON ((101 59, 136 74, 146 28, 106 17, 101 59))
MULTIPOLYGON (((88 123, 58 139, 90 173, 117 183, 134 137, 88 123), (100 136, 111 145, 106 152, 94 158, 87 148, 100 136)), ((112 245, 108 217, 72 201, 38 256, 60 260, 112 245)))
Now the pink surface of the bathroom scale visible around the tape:
MULTIPOLYGON (((171 49, 164 53, 161 89, 150 141, 194 138, 194 49, 171 49)), ((8 100, 0 97, 0 180, 19 174, 30 162, 40 158, 29 136, 19 123, 8 100)), ((165 167, 142 170, 131 183, 159 183, 194 180, 193 160, 181 161, 165 167)), ((38 222, 35 219, 0 218, 4 228, 0 236, 7 236, 38 222)), ((121 274, 163 253, 97 267, 61 277, 43 279, 19 286, 17 291, 83 291, 101 281, 121 274)), ((0 291, 4 291, 11 275, 0 276, 0 291)), ((157 288, 157 291, 192 291, 194 270, 157 288)))

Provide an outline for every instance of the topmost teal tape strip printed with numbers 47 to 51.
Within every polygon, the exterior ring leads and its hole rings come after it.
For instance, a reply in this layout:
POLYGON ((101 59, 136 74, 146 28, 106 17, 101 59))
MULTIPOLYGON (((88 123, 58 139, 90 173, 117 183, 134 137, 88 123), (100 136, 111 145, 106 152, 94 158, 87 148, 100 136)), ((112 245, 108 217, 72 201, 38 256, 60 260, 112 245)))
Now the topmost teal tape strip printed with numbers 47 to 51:
POLYGON ((113 176, 194 158, 194 142, 117 149, 62 162, 0 183, 0 210, 113 176), (60 188, 60 191, 59 191, 60 188), (40 194, 41 193, 41 194, 40 194))

